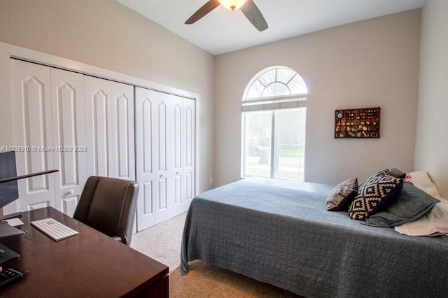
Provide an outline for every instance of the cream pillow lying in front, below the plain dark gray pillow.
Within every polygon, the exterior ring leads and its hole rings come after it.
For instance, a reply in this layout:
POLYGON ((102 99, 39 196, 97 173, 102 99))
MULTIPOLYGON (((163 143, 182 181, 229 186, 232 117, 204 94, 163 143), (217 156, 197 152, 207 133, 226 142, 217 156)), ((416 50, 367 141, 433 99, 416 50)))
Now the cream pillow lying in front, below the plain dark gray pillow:
POLYGON ((448 200, 442 199, 433 210, 418 220, 394 227, 400 234, 409 236, 448 235, 448 200))

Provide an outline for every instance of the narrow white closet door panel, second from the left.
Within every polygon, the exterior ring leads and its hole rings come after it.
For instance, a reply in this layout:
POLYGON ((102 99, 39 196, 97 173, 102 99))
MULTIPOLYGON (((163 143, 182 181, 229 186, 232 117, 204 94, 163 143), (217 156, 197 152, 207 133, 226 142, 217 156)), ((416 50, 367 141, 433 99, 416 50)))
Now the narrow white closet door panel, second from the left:
POLYGON ((50 69, 56 207, 72 216, 87 179, 83 75, 50 69))

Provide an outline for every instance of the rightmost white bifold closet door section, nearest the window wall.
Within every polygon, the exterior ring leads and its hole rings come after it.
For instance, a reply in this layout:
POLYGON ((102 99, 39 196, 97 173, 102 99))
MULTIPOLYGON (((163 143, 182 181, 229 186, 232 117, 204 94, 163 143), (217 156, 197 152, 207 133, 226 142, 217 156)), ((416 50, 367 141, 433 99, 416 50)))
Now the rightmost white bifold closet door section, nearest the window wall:
POLYGON ((135 88, 139 231, 188 210, 195 193, 195 101, 135 88))

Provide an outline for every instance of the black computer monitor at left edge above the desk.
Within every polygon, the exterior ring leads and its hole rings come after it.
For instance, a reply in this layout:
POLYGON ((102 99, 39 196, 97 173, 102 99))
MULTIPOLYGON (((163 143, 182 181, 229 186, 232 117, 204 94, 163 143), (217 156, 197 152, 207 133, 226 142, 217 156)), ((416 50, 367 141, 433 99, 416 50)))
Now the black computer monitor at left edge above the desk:
MULTIPOLYGON (((17 176, 15 169, 15 152, 0 152, 0 180, 17 176)), ((17 180, 0 183, 0 208, 19 198, 17 180)))

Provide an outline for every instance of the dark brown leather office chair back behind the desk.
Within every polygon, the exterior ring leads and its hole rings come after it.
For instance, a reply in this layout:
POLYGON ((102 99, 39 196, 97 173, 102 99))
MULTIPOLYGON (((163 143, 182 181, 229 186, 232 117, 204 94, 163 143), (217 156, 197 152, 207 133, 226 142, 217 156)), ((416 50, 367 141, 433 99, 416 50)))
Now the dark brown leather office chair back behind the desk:
POLYGON ((73 218, 130 246, 138 193, 135 181, 91 176, 73 218))

